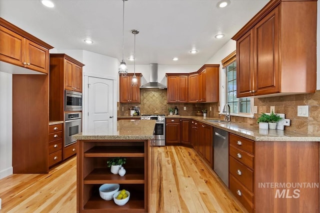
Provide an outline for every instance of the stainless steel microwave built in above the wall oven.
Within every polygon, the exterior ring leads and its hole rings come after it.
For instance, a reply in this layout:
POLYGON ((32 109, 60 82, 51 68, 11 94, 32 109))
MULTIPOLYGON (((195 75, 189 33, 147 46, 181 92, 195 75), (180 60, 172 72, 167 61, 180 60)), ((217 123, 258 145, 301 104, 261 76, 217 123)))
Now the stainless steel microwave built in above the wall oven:
POLYGON ((64 111, 82 111, 82 93, 64 90, 64 111))

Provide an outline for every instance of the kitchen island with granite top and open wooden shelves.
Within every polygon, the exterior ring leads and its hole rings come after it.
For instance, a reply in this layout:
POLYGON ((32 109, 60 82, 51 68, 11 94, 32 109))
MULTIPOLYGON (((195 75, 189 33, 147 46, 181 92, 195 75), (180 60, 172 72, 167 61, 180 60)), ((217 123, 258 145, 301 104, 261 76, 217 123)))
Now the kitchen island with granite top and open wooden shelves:
POLYGON ((114 132, 82 132, 77 140, 77 212, 78 213, 145 213, 148 212, 148 194, 151 184, 150 145, 154 120, 120 120, 114 132), (109 158, 125 157, 124 176, 114 175, 107 168, 109 158), (119 184, 130 192, 124 206, 113 199, 99 197, 102 184, 119 184))

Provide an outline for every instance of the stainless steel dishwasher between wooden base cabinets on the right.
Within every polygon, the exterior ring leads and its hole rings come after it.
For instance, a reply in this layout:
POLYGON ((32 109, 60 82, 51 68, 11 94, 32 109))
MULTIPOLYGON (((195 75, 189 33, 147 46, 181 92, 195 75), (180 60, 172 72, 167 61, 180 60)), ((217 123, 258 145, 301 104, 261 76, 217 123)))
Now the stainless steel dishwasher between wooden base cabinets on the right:
POLYGON ((213 170, 229 187, 229 133, 213 128, 213 170))

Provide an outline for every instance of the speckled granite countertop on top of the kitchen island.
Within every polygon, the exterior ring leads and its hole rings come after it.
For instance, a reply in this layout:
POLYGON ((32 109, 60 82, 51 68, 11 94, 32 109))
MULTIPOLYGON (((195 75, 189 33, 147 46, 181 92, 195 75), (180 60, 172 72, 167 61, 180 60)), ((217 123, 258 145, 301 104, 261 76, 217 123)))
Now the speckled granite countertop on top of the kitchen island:
POLYGON ((152 139, 155 120, 119 120, 116 131, 95 129, 73 135, 75 140, 149 140, 152 139))

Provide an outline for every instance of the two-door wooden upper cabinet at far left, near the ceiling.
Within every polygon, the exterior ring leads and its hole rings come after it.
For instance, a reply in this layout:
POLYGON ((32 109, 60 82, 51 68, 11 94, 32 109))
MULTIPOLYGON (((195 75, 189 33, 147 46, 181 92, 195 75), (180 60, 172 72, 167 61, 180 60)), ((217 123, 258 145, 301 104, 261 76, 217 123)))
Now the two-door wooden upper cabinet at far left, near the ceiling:
MULTIPOLYGON (((49 49, 52 46, 0 18, 0 61, 18 67, 48 73, 49 49)), ((27 74, 27 70, 6 66, 3 72, 27 74)))

